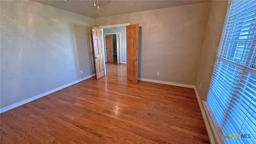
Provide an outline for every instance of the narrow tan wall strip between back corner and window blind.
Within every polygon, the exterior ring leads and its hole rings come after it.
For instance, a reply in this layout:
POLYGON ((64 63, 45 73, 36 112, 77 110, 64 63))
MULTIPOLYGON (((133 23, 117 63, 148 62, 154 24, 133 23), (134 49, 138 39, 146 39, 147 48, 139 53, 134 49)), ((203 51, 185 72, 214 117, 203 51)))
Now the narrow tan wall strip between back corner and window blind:
POLYGON ((210 2, 209 18, 197 74, 199 81, 196 83, 200 101, 206 100, 208 94, 227 7, 228 1, 226 0, 212 0, 210 2), (201 88, 199 88, 200 84, 201 88))

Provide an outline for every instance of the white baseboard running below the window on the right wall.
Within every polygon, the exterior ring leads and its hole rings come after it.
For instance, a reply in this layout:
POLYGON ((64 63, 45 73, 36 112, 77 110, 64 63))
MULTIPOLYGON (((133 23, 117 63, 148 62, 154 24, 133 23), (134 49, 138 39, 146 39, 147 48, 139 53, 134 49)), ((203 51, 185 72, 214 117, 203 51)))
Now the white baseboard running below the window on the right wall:
POLYGON ((196 99, 197 99, 197 102, 199 104, 199 108, 201 110, 201 114, 202 114, 202 117, 203 117, 203 120, 204 120, 204 124, 205 124, 205 127, 206 127, 206 131, 207 131, 207 134, 209 136, 209 140, 210 140, 210 143, 211 144, 215 144, 215 140, 214 140, 214 136, 212 135, 212 132, 211 132, 211 128, 210 128, 210 124, 207 120, 207 116, 206 116, 206 113, 204 111, 204 107, 202 106, 202 103, 200 102, 200 98, 199 98, 199 95, 198 95, 198 92, 196 90, 196 86, 194 86, 194 90, 195 90, 195 93, 196 93, 196 99))

